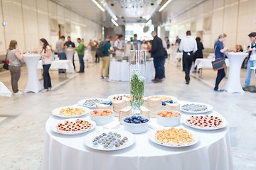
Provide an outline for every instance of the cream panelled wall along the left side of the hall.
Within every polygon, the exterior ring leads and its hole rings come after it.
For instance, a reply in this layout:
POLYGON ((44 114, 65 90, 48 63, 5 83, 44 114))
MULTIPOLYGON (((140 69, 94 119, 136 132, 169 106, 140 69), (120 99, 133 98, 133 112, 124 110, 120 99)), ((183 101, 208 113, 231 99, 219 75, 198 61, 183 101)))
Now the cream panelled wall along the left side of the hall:
POLYGON ((50 0, 0 2, 0 23, 7 23, 7 26, 0 25, 0 55, 6 53, 10 40, 17 40, 18 48, 26 51, 28 47, 41 50, 39 39, 46 38, 54 48, 58 32, 50 30, 50 18, 57 19, 59 24, 70 23, 71 33, 65 36, 71 35, 74 42, 76 38, 85 38, 85 43, 102 38, 102 26, 50 0))

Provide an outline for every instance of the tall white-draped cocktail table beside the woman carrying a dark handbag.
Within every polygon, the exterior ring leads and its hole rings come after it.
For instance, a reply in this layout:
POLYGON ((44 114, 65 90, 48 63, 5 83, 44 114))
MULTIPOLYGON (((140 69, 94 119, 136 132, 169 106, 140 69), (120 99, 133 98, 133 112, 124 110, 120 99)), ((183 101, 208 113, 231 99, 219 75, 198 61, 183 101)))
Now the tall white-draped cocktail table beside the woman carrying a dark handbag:
POLYGON ((240 71, 242 62, 248 53, 245 52, 226 52, 230 63, 230 69, 228 73, 228 82, 223 88, 228 93, 245 93, 242 90, 240 82, 240 71))

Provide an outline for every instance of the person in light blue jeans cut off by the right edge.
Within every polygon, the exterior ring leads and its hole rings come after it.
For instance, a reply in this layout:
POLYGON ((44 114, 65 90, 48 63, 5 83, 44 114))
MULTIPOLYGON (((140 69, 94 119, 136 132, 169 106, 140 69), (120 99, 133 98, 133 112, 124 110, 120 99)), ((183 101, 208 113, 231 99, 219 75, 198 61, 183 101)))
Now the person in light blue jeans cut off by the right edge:
POLYGON ((256 67, 256 32, 252 32, 248 36, 252 43, 249 48, 245 87, 250 86, 250 77, 252 74, 252 69, 250 69, 250 67, 256 67))

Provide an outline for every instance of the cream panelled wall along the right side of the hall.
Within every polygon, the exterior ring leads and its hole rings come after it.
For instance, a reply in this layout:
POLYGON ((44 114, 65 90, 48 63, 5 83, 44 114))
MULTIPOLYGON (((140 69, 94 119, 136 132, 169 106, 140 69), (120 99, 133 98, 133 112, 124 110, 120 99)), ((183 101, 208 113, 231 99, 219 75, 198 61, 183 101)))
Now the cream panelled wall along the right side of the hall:
POLYGON ((208 0, 172 19, 165 28, 170 30, 170 38, 175 40, 179 35, 182 39, 186 30, 191 29, 191 22, 196 21, 193 37, 197 31, 203 31, 205 47, 213 48, 218 35, 226 33, 228 38, 224 43, 233 49, 236 44, 250 44, 247 35, 256 31, 255 19, 255 0, 208 0), (208 16, 211 17, 211 28, 203 30, 203 19, 208 16))

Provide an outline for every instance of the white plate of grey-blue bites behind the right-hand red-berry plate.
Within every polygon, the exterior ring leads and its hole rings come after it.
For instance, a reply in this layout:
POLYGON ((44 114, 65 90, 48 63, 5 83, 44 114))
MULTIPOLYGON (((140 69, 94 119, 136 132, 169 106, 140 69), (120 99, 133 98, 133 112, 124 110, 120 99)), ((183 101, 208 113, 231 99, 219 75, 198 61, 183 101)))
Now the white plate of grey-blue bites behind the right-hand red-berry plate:
POLYGON ((202 114, 213 110, 213 106, 206 103, 185 103, 181 106, 184 113, 202 114))

